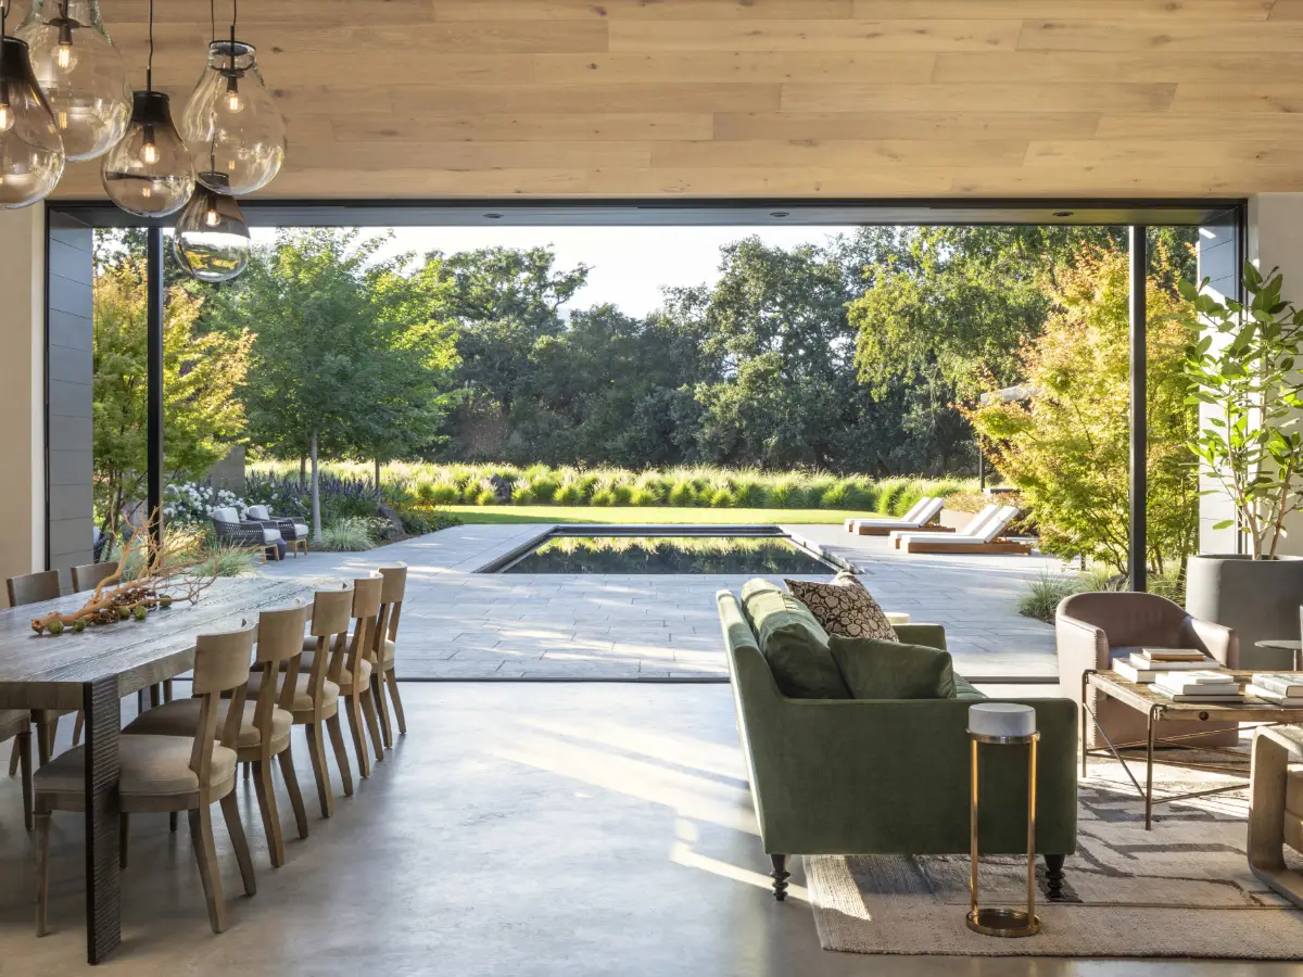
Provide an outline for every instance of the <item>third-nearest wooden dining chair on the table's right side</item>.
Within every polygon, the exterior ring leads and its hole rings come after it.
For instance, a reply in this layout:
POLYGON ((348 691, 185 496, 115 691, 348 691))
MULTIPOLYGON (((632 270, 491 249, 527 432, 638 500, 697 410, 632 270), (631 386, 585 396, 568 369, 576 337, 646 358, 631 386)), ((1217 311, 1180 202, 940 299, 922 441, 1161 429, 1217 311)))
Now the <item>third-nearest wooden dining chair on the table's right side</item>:
MULTIPOLYGON (((330 733, 335 762, 344 780, 344 796, 353 795, 353 771, 344 746, 344 731, 339 722, 339 685, 326 677, 330 666, 332 645, 348 633, 349 614, 353 608, 353 591, 345 585, 339 590, 318 590, 313 594, 313 619, 308 625, 310 637, 302 637, 300 628, 296 641, 304 651, 297 658, 284 660, 284 675, 279 683, 276 705, 288 710, 294 726, 302 726, 308 735, 308 752, 313 761, 313 775, 317 780, 317 797, 321 801, 322 817, 335 813, 335 792, 330 783, 330 767, 326 763, 326 735, 330 733), (292 672, 297 668, 297 673, 292 672)), ((249 679, 249 694, 259 696, 266 671, 258 671, 249 679)))

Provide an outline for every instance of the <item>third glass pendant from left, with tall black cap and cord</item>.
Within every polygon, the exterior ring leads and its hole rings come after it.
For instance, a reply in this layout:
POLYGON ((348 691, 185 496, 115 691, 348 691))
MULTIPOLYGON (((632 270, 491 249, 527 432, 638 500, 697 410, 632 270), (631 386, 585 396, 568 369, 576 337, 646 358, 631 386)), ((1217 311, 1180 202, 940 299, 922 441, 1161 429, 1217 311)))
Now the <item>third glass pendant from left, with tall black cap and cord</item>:
POLYGON ((132 121, 100 167, 109 199, 128 214, 163 218, 194 193, 190 151, 172 125, 168 96, 154 91, 154 0, 150 0, 150 60, 145 91, 132 95, 132 121))

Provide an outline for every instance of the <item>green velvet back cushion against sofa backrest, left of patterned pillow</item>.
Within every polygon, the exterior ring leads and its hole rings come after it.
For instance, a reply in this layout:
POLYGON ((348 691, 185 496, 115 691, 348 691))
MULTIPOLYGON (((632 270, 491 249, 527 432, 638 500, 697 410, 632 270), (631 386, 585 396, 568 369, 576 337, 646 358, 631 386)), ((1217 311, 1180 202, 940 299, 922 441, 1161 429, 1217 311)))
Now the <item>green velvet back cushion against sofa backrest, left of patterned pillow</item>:
POLYGON ((778 588, 743 588, 744 607, 778 689, 788 698, 850 698, 827 649, 827 632, 809 608, 778 588))

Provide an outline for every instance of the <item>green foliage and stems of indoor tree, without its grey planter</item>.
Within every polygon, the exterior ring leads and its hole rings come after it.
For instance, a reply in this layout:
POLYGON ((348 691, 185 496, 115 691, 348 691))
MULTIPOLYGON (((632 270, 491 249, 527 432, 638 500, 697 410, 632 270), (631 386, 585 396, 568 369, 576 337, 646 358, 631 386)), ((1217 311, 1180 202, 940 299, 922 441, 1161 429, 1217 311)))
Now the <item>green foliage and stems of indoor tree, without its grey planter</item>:
POLYGON ((1282 276, 1244 264, 1247 305, 1218 301, 1199 287, 1178 284, 1190 331, 1184 374, 1186 403, 1203 406, 1190 443, 1203 473, 1218 483, 1204 495, 1225 492, 1237 518, 1217 522, 1238 531, 1255 560, 1274 559, 1286 517, 1299 508, 1303 472, 1303 409, 1299 347, 1303 311, 1281 298, 1282 276))

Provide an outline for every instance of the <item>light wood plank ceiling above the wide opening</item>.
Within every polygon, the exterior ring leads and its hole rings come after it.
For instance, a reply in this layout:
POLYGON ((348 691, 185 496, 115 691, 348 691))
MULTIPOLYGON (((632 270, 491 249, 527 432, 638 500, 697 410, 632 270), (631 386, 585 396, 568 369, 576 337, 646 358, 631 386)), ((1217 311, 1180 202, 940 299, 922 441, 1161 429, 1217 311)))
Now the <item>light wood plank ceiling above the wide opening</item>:
MULTIPOLYGON (((16 4, 20 7, 20 4, 16 4)), ((180 115, 208 4, 159 0, 180 115)), ((143 0, 103 0, 143 83, 143 0)), ((263 195, 1303 190, 1303 0, 246 0, 263 195)), ((218 0, 219 33, 229 0, 218 0)), ((98 198, 98 163, 56 194, 98 198)))

